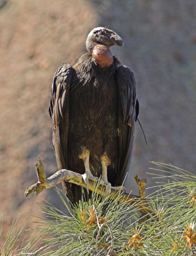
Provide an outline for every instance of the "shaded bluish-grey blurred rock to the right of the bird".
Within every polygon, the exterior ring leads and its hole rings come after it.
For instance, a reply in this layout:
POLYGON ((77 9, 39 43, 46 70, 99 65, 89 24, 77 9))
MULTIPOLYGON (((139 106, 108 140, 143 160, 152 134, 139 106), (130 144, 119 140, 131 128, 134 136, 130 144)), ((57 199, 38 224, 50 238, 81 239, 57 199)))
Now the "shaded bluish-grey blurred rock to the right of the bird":
MULTIPOLYGON (((95 1, 100 24, 119 32, 123 49, 114 49, 133 71, 140 103, 127 187, 132 176, 153 167, 148 161, 195 171, 196 2, 95 1), (109 10, 113 9, 112 12, 109 10)), ((151 181, 149 184, 151 184, 151 181)))

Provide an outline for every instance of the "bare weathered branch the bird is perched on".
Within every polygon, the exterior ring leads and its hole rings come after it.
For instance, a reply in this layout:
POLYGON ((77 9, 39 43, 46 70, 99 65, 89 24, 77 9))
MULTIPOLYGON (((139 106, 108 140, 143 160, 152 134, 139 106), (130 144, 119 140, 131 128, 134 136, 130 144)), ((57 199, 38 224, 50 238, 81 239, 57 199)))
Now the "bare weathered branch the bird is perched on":
MULTIPOLYGON (((95 185, 95 181, 91 180, 90 178, 88 179, 88 184, 86 184, 81 174, 74 173, 74 171, 69 171, 66 169, 59 170, 49 178, 46 178, 44 166, 41 162, 40 157, 38 157, 38 164, 36 164, 36 173, 38 176, 38 182, 31 185, 25 190, 25 197, 29 196, 29 194, 31 194, 32 192, 36 192, 36 195, 38 195, 44 189, 52 188, 58 183, 62 182, 63 180, 66 180, 70 183, 74 183, 76 185, 81 185, 82 187, 89 189, 91 191, 94 191, 98 194, 103 194, 105 192, 104 185, 102 184, 95 185)), ((146 180, 144 179, 139 180, 137 175, 135 175, 134 178, 138 184, 139 197, 132 194, 124 193, 123 191, 121 191, 121 194, 119 196, 119 190, 111 188, 111 193, 109 198, 111 199, 118 198, 119 202, 125 202, 129 205, 139 202, 139 204, 137 204, 139 211, 141 211, 142 214, 151 215, 151 211, 147 207, 147 202, 144 199, 144 196, 145 196, 144 186, 146 184, 146 180)))

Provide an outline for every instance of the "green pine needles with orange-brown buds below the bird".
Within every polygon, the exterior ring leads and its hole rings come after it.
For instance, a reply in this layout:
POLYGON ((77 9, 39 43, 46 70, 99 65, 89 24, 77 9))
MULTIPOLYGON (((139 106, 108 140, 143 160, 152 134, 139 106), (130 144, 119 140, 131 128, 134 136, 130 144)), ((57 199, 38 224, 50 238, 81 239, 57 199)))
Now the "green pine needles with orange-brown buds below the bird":
MULTIPOLYGON (((140 213, 141 199, 132 205, 119 203, 93 193, 72 212, 62 192, 57 190, 69 216, 49 203, 43 207, 46 220, 40 220, 37 238, 13 249, 20 235, 13 230, 2 246, 2 255, 196 255, 196 176, 172 165, 156 164, 155 192, 147 196, 147 211, 140 213), (167 178, 167 182, 161 182, 167 178), (15 234, 13 238, 13 234, 15 234), (41 247, 36 243, 41 240, 41 247), (7 248, 7 249, 5 249, 7 248), (3 254, 4 252, 4 254, 3 254)), ((0 231, 1 234, 1 231, 0 231)), ((1 254, 0 253, 0 254, 1 254)))

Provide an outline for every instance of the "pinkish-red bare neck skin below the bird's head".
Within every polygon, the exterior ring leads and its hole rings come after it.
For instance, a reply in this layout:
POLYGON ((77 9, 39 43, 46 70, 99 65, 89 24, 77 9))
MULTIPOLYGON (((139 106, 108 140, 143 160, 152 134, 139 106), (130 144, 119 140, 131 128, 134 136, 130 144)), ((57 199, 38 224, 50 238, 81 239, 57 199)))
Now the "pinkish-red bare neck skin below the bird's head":
POLYGON ((103 44, 96 44, 92 49, 92 57, 95 58, 100 68, 106 68, 113 64, 113 55, 108 46, 103 44))

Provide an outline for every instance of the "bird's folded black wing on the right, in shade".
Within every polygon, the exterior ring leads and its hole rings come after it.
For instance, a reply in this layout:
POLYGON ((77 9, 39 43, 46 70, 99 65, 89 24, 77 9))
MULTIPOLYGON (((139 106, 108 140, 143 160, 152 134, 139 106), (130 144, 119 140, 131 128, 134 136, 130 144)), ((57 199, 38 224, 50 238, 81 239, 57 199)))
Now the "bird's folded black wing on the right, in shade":
POLYGON ((119 88, 119 171, 117 185, 121 185, 129 171, 132 159, 134 123, 136 119, 136 81, 127 66, 116 69, 119 88))

